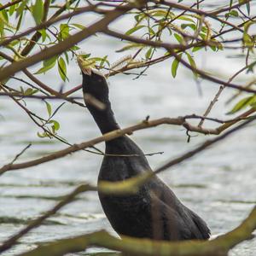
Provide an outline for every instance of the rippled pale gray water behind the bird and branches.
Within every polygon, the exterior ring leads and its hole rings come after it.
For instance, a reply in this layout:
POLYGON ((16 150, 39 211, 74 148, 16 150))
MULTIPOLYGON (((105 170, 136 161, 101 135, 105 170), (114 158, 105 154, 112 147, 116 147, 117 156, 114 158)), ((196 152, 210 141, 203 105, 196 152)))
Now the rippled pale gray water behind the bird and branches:
MULTIPOLYGON (((127 23, 121 24, 129 26, 127 23)), ((122 56, 114 52, 122 45, 124 44, 100 35, 86 40, 82 44, 82 49, 92 52, 93 55, 109 55, 110 60, 114 61, 122 56)), ((207 68, 218 73, 220 78, 228 79, 244 64, 241 59, 230 59, 229 56, 232 54, 232 51, 218 53, 207 51, 207 53, 198 53, 196 61, 198 67, 207 68)), ((113 110, 122 127, 137 124, 147 115, 150 115, 150 119, 155 119, 204 113, 207 104, 218 90, 218 84, 207 81, 197 84, 193 74, 183 67, 178 68, 177 78, 172 79, 171 64, 172 61, 168 60, 155 65, 148 70, 147 76, 136 80, 133 80, 132 76, 125 75, 116 75, 109 79, 113 110), (199 88, 202 90, 202 95, 199 88)), ((35 71, 38 67, 32 67, 31 70, 35 71)), ((17 76, 23 77, 21 73, 17 76)), ((69 67, 68 76, 70 82, 65 84, 66 90, 81 83, 79 68, 74 61, 69 67)), ((55 70, 39 78, 44 79, 46 84, 55 89, 61 86, 55 70)), ((252 78, 252 74, 242 74, 236 82, 243 84, 252 78)), ((81 92, 77 95, 80 94, 81 92)), ((224 102, 231 95, 231 90, 224 90, 210 116, 230 118, 225 113, 232 105, 226 106, 224 102)), ((33 100, 26 102, 28 108, 47 117, 43 102, 33 100)), ((60 104, 61 102, 53 102, 55 108, 60 104)), ((100 135, 89 112, 76 105, 66 103, 56 114, 55 119, 61 124, 59 135, 66 138, 69 143, 81 143, 100 135)), ((214 125, 206 122, 206 126, 214 125)), ((38 138, 38 131, 39 128, 33 125, 32 120, 17 108, 14 102, 1 98, 0 162, 2 165, 9 163, 28 143, 32 143, 32 147, 22 154, 19 161, 32 160, 66 148, 58 141, 38 138)), ((187 143, 182 127, 161 125, 136 131, 131 137, 146 154, 164 151, 164 154, 148 157, 154 169, 210 138, 198 134, 192 135, 195 137, 187 143)), ((160 173, 160 177, 172 187, 181 201, 207 221, 212 235, 222 234, 235 228, 247 217, 256 203, 255 140, 255 125, 250 125, 192 160, 160 173)), ((99 144, 97 147, 103 150, 104 144, 99 144)), ((59 201, 61 195, 67 195, 78 184, 83 182, 96 184, 101 161, 102 156, 81 151, 40 166, 5 173, 0 177, 0 241, 15 234, 32 218, 44 214, 59 201)), ((32 230, 17 246, 3 255, 24 252, 35 247, 39 242, 79 236, 102 229, 114 234, 102 212, 96 193, 84 193, 79 195, 77 201, 61 209, 38 229, 32 230)), ((92 248, 87 252, 97 251, 96 248, 92 248)), ((253 256, 255 252, 254 239, 241 243, 230 255, 253 256)))

